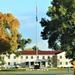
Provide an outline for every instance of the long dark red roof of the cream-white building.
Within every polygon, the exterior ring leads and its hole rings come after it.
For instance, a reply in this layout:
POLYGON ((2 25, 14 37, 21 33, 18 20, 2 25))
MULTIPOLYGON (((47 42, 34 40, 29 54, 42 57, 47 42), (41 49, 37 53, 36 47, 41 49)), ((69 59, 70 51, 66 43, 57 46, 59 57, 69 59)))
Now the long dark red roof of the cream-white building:
MULTIPOLYGON (((57 51, 38 51, 38 55, 53 55, 53 54, 58 54, 62 51, 57 50, 57 51)), ((22 55, 36 55, 36 51, 20 51, 22 55)))

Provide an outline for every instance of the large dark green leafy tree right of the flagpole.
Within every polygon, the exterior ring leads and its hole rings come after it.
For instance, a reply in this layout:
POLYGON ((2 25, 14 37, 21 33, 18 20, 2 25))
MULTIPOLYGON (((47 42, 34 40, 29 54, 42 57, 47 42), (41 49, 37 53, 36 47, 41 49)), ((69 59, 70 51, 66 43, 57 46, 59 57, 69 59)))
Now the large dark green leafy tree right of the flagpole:
POLYGON ((41 19, 42 39, 48 40, 48 47, 60 44, 67 58, 75 57, 75 0, 53 0, 47 16, 41 19))

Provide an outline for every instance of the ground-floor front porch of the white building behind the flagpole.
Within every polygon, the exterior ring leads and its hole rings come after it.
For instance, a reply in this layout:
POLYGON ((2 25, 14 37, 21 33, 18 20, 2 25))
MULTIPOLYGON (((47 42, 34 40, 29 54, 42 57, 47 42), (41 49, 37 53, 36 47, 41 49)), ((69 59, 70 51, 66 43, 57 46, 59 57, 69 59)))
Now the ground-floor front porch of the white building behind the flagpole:
POLYGON ((47 62, 46 60, 26 61, 26 62, 20 63, 20 66, 26 67, 26 68, 39 69, 39 68, 47 67, 47 62))

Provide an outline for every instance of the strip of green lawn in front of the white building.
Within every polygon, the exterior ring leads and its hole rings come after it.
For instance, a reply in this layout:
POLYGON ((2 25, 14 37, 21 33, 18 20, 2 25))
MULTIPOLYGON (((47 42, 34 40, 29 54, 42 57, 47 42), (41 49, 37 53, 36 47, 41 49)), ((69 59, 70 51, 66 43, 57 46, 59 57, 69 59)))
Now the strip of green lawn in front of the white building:
MULTIPOLYGON (((6 69, 6 70, 1 70, 0 74, 49 74, 49 73, 64 73, 68 72, 67 68, 58 68, 58 69, 48 69, 43 71, 43 70, 33 70, 33 71, 26 71, 25 69, 6 69), (38 72, 37 72, 38 71, 38 72)), ((72 69, 70 69, 70 72, 73 72, 72 69)))

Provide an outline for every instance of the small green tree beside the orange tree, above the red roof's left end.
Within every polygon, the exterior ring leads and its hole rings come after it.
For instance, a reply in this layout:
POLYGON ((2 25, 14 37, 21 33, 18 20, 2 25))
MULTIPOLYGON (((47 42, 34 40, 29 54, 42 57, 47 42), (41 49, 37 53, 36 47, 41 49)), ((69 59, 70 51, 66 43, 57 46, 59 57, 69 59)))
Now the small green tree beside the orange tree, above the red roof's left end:
POLYGON ((17 42, 18 42, 18 49, 24 50, 26 45, 30 44, 31 41, 32 41, 30 38, 28 38, 27 40, 22 38, 22 35, 20 33, 18 33, 17 37, 18 37, 18 40, 17 40, 17 42))

